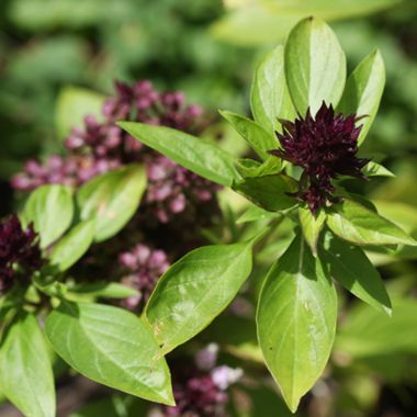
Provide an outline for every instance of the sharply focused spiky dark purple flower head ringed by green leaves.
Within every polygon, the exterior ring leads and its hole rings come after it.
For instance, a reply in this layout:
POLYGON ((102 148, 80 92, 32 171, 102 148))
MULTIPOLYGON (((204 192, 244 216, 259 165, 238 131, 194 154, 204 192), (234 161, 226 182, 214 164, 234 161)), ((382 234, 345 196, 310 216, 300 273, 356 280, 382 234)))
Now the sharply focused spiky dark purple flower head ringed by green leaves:
POLYGON ((361 169, 369 159, 356 156, 361 132, 361 126, 356 126, 358 120, 354 114, 335 114, 333 106, 323 102, 315 117, 308 109, 304 119, 298 115, 295 122, 281 121, 283 133, 277 134, 281 148, 270 154, 303 168, 297 198, 313 213, 331 201, 331 179, 339 174, 363 178, 361 169))

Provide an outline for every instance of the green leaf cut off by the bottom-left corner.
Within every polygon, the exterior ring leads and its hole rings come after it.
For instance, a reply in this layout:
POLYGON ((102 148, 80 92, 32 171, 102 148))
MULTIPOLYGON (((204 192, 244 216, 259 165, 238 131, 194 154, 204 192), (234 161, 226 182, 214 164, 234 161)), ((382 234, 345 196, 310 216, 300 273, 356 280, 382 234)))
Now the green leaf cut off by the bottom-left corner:
POLYGON ((33 314, 19 313, 0 347, 1 392, 25 416, 55 416, 55 386, 44 336, 33 314))

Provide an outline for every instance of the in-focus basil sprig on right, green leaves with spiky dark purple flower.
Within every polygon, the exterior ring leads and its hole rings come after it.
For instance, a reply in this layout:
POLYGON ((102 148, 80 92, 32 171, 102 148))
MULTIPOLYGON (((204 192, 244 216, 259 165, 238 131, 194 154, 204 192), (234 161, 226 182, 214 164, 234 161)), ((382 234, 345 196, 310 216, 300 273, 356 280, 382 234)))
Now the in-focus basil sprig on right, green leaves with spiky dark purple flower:
MULTIPOLYGON (((143 316, 158 347, 154 360, 193 338, 227 307, 251 274, 256 248, 283 218, 293 225, 292 243, 264 279, 252 279, 263 280, 256 315, 259 345, 292 412, 331 353, 337 284, 391 315, 388 294, 367 250, 393 251, 416 241, 345 188, 346 178, 391 174, 358 156, 384 81, 377 50, 347 77, 337 37, 326 23, 308 18, 260 61, 251 87, 253 120, 221 112, 253 150, 252 159, 235 158, 213 142, 169 127, 120 123, 147 146, 245 196, 250 202, 246 222, 268 219, 245 241, 189 252, 160 278, 143 316)), ((88 315, 105 319, 95 311, 88 315)), ((47 331, 57 330, 50 325, 47 331)), ((59 353, 66 358, 67 352, 59 353)))

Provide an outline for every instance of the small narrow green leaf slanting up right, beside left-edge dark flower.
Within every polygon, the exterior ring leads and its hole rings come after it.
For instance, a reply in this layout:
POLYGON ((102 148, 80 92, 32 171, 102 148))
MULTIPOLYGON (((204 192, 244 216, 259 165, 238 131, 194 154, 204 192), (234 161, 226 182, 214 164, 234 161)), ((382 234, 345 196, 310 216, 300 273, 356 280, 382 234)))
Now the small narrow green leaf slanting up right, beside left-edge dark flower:
POLYGON ((91 246, 94 232, 94 221, 80 222, 54 246, 49 262, 60 271, 72 267, 91 246))

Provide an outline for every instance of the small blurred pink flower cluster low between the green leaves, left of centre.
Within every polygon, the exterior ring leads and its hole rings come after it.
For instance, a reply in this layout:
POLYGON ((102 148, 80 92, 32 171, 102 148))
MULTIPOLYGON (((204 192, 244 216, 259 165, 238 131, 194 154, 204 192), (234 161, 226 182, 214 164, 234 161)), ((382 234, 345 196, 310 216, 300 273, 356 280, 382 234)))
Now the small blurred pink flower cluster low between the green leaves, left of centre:
POLYGON ((138 291, 137 296, 123 301, 123 305, 135 309, 146 303, 159 277, 169 268, 168 256, 164 250, 154 250, 146 245, 136 245, 119 256, 119 262, 126 273, 122 282, 138 291))

